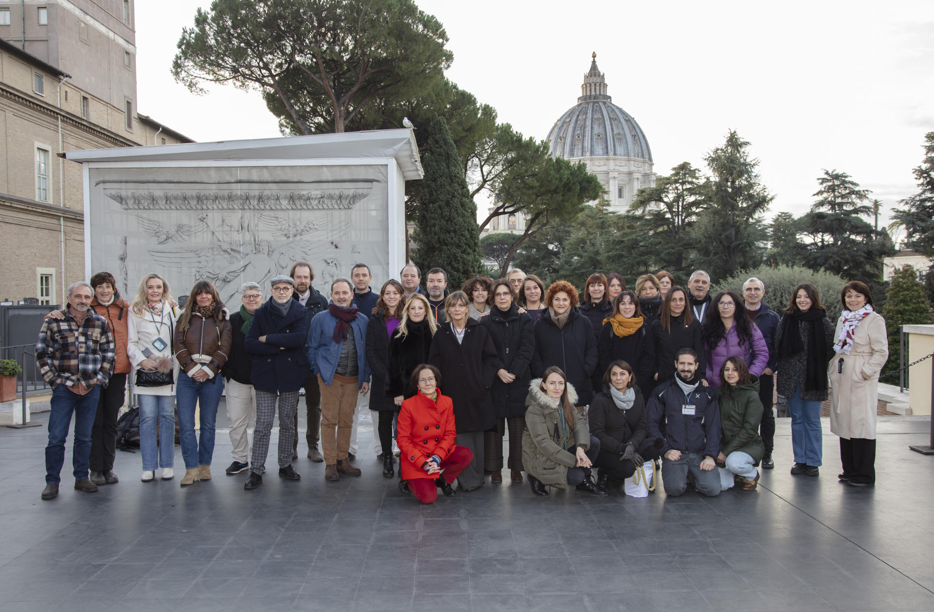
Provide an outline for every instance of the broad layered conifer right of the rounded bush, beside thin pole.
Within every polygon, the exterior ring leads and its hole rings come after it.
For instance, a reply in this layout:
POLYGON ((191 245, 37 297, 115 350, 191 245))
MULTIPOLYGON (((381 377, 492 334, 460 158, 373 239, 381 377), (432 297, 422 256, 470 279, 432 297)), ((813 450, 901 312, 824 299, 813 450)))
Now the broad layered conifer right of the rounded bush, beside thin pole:
POLYGON ((880 288, 883 259, 895 249, 888 234, 862 219, 872 212, 870 191, 837 170, 824 170, 817 183, 817 200, 801 219, 801 231, 811 239, 797 249, 801 262, 880 288))

